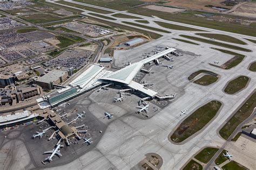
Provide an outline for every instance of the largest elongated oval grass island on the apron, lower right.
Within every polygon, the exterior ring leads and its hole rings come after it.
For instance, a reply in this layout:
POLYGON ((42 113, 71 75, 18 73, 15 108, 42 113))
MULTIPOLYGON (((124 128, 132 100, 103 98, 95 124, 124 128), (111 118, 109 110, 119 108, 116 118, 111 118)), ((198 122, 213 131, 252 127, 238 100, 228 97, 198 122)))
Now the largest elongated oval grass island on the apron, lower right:
POLYGON ((194 111, 173 132, 171 140, 180 143, 198 132, 211 121, 221 107, 219 101, 211 101, 194 111))

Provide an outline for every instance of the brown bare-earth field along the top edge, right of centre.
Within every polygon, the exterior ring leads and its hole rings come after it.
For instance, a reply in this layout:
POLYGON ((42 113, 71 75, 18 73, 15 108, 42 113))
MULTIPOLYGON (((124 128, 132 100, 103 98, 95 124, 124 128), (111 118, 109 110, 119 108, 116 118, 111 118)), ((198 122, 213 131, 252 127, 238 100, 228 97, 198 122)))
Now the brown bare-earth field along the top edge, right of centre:
POLYGON ((177 6, 181 8, 190 8, 190 9, 199 9, 199 10, 206 10, 206 11, 218 11, 209 7, 206 7, 205 5, 213 5, 218 6, 221 8, 227 8, 231 9, 232 6, 226 6, 223 4, 220 4, 223 2, 223 0, 172 0, 171 2, 165 3, 165 5, 171 5, 171 6, 177 6))

